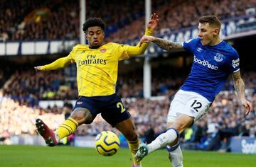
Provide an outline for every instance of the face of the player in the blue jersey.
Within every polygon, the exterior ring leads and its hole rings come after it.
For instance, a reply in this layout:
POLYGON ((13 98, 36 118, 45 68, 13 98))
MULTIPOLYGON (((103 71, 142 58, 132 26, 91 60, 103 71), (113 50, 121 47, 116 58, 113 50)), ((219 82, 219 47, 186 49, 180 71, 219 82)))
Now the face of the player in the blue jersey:
POLYGON ((198 37, 201 39, 202 45, 212 45, 218 35, 218 28, 213 28, 209 23, 199 23, 198 29, 198 37))

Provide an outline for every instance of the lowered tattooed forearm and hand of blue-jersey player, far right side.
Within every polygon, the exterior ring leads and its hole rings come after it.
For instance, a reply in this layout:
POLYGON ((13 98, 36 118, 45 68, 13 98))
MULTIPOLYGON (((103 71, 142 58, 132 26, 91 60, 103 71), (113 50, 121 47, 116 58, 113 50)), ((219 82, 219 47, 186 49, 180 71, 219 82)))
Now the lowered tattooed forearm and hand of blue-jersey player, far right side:
POLYGON ((245 98, 245 83, 244 81, 242 81, 240 71, 236 71, 233 73, 233 80, 235 83, 235 91, 238 93, 240 102, 246 110, 245 115, 248 115, 252 111, 252 103, 250 103, 250 101, 247 101, 245 98))

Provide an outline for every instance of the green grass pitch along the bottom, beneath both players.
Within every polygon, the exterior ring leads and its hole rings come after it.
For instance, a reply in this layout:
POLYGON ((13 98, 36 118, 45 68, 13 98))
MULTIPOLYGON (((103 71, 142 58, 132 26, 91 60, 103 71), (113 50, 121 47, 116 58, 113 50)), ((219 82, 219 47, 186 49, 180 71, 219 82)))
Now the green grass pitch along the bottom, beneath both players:
MULTIPOLYGON (((128 149, 119 149, 110 157, 100 156, 95 149, 70 146, 0 146, 0 166, 58 167, 130 167, 128 149)), ((183 151, 185 167, 255 167, 255 154, 230 154, 206 151, 183 151)), ((159 150, 146 156, 144 167, 171 166, 167 152, 159 150)))

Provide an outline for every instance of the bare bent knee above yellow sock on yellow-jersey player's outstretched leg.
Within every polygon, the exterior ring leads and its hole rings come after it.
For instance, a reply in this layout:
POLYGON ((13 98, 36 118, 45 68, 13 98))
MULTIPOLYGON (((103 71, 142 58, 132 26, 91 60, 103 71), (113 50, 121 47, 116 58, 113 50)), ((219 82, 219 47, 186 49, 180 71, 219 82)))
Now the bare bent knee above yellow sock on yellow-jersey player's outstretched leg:
POLYGON ((76 120, 79 125, 83 123, 90 124, 93 121, 92 114, 87 108, 75 108, 75 110, 73 110, 73 113, 71 113, 70 117, 76 120))

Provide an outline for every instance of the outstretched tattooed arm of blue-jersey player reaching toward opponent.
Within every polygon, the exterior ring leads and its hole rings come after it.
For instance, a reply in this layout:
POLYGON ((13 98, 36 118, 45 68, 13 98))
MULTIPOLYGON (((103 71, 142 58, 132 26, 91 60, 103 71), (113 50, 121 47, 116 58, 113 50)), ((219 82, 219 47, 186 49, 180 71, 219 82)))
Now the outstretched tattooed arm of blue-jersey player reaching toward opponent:
POLYGON ((140 43, 149 43, 154 42, 156 45, 161 47, 164 50, 173 51, 173 50, 184 50, 182 42, 171 42, 169 40, 164 40, 161 38, 156 38, 154 36, 144 35, 140 40, 140 43))

